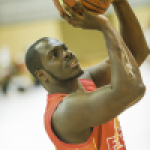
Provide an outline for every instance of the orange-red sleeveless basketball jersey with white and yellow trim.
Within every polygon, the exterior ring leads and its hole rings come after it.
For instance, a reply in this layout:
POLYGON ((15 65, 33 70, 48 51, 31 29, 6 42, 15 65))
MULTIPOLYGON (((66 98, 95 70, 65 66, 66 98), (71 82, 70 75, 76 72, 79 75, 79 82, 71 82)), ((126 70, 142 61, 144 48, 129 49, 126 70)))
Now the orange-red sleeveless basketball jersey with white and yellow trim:
MULTIPOLYGON (((86 79, 80 79, 87 92, 97 89, 96 85, 86 79)), ((56 150, 126 150, 123 141, 122 130, 117 118, 97 127, 93 127, 93 132, 84 143, 70 144, 62 142, 57 138, 51 129, 51 117, 67 94, 48 95, 48 103, 45 110, 45 130, 55 145, 56 150)))

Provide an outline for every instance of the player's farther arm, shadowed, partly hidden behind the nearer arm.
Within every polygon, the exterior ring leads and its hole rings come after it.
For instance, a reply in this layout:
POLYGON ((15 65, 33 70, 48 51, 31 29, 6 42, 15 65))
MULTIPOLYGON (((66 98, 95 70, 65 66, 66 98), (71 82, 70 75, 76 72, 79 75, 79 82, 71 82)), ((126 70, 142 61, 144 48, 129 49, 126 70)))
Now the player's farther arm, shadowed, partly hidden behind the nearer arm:
MULTIPOLYGON (((140 66, 149 55, 150 50, 148 50, 138 19, 127 0, 113 0, 112 4, 119 20, 121 36, 140 66)), ((98 87, 110 83, 111 65, 108 58, 102 63, 88 68, 87 71, 90 72, 98 87)))

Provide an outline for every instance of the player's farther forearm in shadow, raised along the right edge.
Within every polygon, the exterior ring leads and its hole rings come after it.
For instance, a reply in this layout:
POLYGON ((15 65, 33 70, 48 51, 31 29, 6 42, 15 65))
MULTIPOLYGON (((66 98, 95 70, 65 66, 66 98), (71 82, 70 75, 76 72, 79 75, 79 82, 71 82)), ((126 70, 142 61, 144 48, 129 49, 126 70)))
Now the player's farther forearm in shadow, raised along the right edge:
POLYGON ((114 1, 112 4, 120 22, 122 38, 140 66, 149 51, 138 19, 126 0, 114 1))

